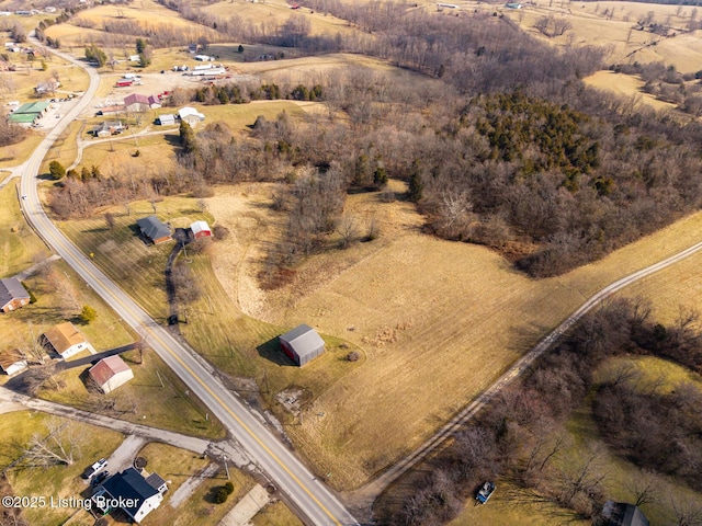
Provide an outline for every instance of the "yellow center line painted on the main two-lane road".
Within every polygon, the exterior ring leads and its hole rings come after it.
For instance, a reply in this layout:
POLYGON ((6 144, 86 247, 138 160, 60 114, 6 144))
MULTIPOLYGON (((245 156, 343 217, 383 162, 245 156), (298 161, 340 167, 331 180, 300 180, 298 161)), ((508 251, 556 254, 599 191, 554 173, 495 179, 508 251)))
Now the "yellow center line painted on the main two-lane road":
MULTIPOLYGON (((55 227, 55 228, 58 230, 58 227, 55 227)), ((50 229, 49 229, 49 231, 50 231, 49 236, 54 238, 54 239, 53 239, 54 241, 56 241, 56 238, 55 238, 55 236, 54 236, 54 231, 52 231, 50 229)), ((69 242, 72 244, 72 242, 71 242, 70 240, 69 240, 69 242)), ((60 243, 56 243, 56 242, 55 242, 54 244, 55 244, 55 245, 56 245, 56 244, 59 244, 59 245, 60 245, 60 243)), ((73 244, 73 247, 76 247, 76 245, 73 244)), ((78 249, 77 247, 76 247, 76 249, 80 252, 80 254, 81 254, 81 255, 83 255, 83 256, 84 256, 84 254, 82 254, 82 252, 80 251, 80 249, 78 249)), ((86 275, 88 275, 88 276, 92 277, 95 282, 100 283, 100 279, 98 278, 98 276, 95 276, 95 274, 92 272, 92 268, 90 268, 90 266, 86 266, 86 265, 83 264, 83 262, 82 262, 82 261, 80 261, 80 260, 77 260, 77 263, 78 263, 78 265, 81 267, 81 270, 86 273, 86 275)), ((102 271, 100 271, 100 272, 102 272, 102 271)), ((105 276, 106 276, 106 274, 105 274, 105 276)), ((84 279, 84 278, 83 278, 83 279, 84 279)), ((110 279, 110 277, 109 277, 109 276, 107 276, 107 279, 109 279, 111 283, 113 283, 113 284, 114 284, 114 282, 112 282, 112 279, 110 279)), ((116 286, 116 284, 115 284, 115 286, 116 286)), ((126 310, 131 316, 133 316, 133 317, 134 317, 135 319, 137 319, 137 320, 138 320, 139 318, 141 318, 141 317, 138 315, 138 312, 134 311, 134 310, 133 310, 133 308, 132 308, 131 306, 128 306, 128 305, 124 304, 124 302, 122 301, 122 299, 121 299, 118 296, 116 296, 112 290, 110 290, 106 286, 104 286, 104 285, 103 285, 103 286, 102 286, 102 288, 107 293, 107 295, 109 295, 109 296, 110 296, 110 297, 111 297, 115 302, 120 304, 120 305, 122 306, 122 308, 123 308, 123 309, 125 309, 125 310, 126 310)), ((143 311, 143 312, 144 312, 144 313, 146 313, 146 311, 143 311)), ((150 318, 150 316, 148 316, 148 315, 146 315, 146 316, 147 316, 148 318, 150 318)), ((125 320, 125 321, 126 321, 126 320, 125 320)), ((288 474, 288 476, 290 476, 290 477, 291 477, 291 478, 292 478, 292 479, 297 483, 297 485, 299 485, 299 487, 303 489, 303 491, 304 491, 305 493, 307 493, 307 495, 309 495, 309 498, 310 498, 313 501, 315 501, 315 503, 317 503, 317 505, 318 505, 318 506, 319 506, 319 507, 320 507, 320 508, 321 508, 321 510, 327 514, 327 516, 328 516, 329 518, 331 518, 331 521, 333 521, 333 524, 336 524, 336 525, 338 525, 338 526, 341 526, 341 523, 339 523, 339 521, 333 516, 333 514, 331 514, 331 512, 329 512, 329 510, 327 510, 327 507, 326 507, 321 502, 319 502, 319 500, 318 500, 318 499, 314 495, 314 493, 313 493, 313 492, 307 488, 307 485, 303 484, 303 482, 297 478, 297 476, 295 476, 295 474, 294 474, 294 473, 293 473, 293 472, 287 468, 287 466, 286 466, 286 465, 285 465, 285 464, 284 464, 284 462, 283 462, 283 461, 282 461, 282 460, 281 460, 281 459, 280 459, 280 458, 279 458, 279 457, 278 457, 278 456, 276 456, 276 455, 275 455, 271 449, 269 449, 269 447, 265 445, 265 443, 264 443, 261 438, 259 438, 259 436, 258 436, 256 433, 253 433, 253 432, 249 428, 249 426, 248 426, 248 425, 246 425, 246 424, 241 421, 241 419, 239 419, 239 416, 238 416, 234 411, 231 411, 231 409, 230 409, 226 403, 224 403, 224 401, 223 401, 223 400, 222 400, 217 395, 215 395, 215 392, 214 392, 212 389, 210 389, 210 387, 208 387, 208 386, 207 386, 207 385, 206 385, 206 384, 205 384, 205 382, 200 378, 200 376, 197 376, 197 375, 196 375, 196 374, 195 374, 195 373, 194 373, 194 371, 193 371, 193 370, 192 370, 188 365, 185 365, 185 363, 180 358, 180 356, 178 356, 173 351, 171 351, 170 346, 169 346, 168 344, 166 344, 166 342, 163 342, 163 340, 160 338, 160 335, 159 335, 159 334, 157 334, 157 333, 156 333, 156 332, 155 332, 150 327, 148 327, 148 325, 144 325, 144 327, 145 327, 145 328, 146 328, 146 330, 149 332, 149 334, 151 335, 151 338, 154 338, 155 340, 157 340, 157 341, 158 341, 158 342, 159 342, 159 343, 160 343, 160 344, 161 344, 161 345, 167 350, 167 352, 171 355, 171 357, 173 357, 173 358, 174 358, 174 359, 176 359, 176 361, 177 361, 177 362, 178 362, 178 363, 179 363, 179 364, 180 364, 180 365, 181 365, 181 366, 182 366, 182 367, 183 367, 183 368, 184 368, 184 369, 185 369, 185 370, 186 370, 186 371, 188 371, 188 373, 189 373, 189 374, 190 374, 190 375, 195 379, 195 380, 197 380, 197 382, 199 382, 199 384, 200 384, 200 385, 205 389, 205 391, 207 391, 207 393, 208 393, 208 395, 210 395, 214 400, 216 400, 216 401, 217 401, 217 403, 219 403, 219 405, 220 405, 220 407, 222 407, 222 408, 223 408, 227 413, 229 413, 229 414, 230 414, 230 415, 231 415, 231 416, 233 416, 233 418, 238 422, 238 424, 239 424, 239 425, 240 425, 240 426, 241 426, 241 427, 242 427, 242 428, 244 428, 244 430, 245 430, 245 431, 246 431, 246 432, 251 436, 251 438, 253 438, 253 439, 259 444, 259 446, 261 446, 261 447, 263 448, 263 450, 265 450, 265 453, 267 453, 268 455, 270 455, 270 456, 271 456, 271 458, 272 458, 273 460, 275 460, 275 462, 276 462, 281 468, 283 468, 283 470, 284 470, 284 471, 285 471, 285 472, 286 472, 286 473, 287 473, 287 474, 288 474)), ((159 327, 160 327, 160 325, 159 325, 159 327)))

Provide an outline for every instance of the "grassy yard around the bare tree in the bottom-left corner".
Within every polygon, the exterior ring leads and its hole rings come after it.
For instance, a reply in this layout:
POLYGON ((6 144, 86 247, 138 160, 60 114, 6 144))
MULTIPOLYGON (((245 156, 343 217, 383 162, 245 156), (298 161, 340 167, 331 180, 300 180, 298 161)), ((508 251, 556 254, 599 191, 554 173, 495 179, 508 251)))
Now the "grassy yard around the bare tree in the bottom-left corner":
MULTIPOLYGON (((15 496, 44 496, 50 498, 87 498, 88 484, 80 478, 83 470, 102 457, 109 457, 122 442, 122 434, 93 427, 88 424, 72 422, 57 416, 36 413, 33 411, 19 411, 2 415, 0 426, 0 464, 4 467, 15 460, 22 451, 20 446, 29 443, 34 434, 45 437, 50 428, 61 428, 65 447, 72 444, 73 464, 70 466, 10 468, 7 471, 8 481, 15 496)), ((58 435, 57 435, 58 436, 58 435)), ((53 526, 64 524, 75 512, 83 515, 86 512, 75 508, 61 507, 27 507, 23 511, 23 517, 33 526, 53 526)), ((92 524, 73 523, 70 524, 92 524)))

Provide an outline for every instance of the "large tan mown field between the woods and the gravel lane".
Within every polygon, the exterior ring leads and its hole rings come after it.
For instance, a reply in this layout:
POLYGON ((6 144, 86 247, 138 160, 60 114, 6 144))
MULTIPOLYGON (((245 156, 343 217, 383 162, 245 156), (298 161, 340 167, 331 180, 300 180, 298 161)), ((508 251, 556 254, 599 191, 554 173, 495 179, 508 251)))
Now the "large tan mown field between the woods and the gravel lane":
MULTIPOLYGON (((256 275, 280 228, 267 206, 271 190, 249 183, 207 199, 217 224, 233 232, 215 243, 213 267, 244 312, 281 325, 306 322, 364 350, 365 364, 315 400, 302 426, 287 430, 343 488, 419 445, 595 291, 693 244, 702 228, 698 214, 596 264, 534 281, 488 249, 421 233, 409 203, 355 194, 346 213, 361 235, 375 217, 381 238, 314 256, 292 284, 265 291, 256 275)), ((403 186, 394 182, 393 190, 403 186)))

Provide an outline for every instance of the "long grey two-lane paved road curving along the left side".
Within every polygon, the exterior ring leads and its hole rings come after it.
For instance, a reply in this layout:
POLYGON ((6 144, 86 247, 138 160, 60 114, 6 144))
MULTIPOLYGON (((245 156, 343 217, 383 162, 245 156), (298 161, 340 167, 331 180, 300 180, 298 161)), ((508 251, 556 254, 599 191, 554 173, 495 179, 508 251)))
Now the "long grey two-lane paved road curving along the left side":
POLYGON ((90 75, 90 88, 61 122, 48 133, 25 164, 21 179, 22 208, 25 217, 52 247, 122 319, 139 333, 156 353, 183 380, 193 395, 219 419, 230 435, 246 450, 259 469, 275 483, 301 518, 314 525, 355 525, 355 518, 339 500, 287 449, 248 408, 215 377, 195 352, 176 340, 154 321, 129 296, 84 256, 44 213, 37 186, 42 160, 61 132, 90 103, 99 85, 92 68, 66 54, 58 54, 83 67, 90 75), (25 197, 24 197, 25 196, 25 197))

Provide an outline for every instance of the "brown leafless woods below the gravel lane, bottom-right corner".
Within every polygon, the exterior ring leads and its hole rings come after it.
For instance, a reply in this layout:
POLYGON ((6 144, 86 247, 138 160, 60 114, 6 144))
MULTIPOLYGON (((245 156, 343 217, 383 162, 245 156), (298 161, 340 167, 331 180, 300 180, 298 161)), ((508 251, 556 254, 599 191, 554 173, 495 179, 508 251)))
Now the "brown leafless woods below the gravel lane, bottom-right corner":
POLYGON ((678 521, 699 515, 702 505, 668 491, 658 474, 702 490, 697 469, 702 455, 699 385, 682 382, 665 391, 661 381, 644 381, 626 366, 595 384, 592 373, 604 359, 627 355, 664 356, 700 371, 701 348, 697 315, 681 312, 664 327, 650 319, 643 300, 610 301, 491 399, 451 445, 410 473, 412 481, 404 485, 403 495, 382 496, 378 518, 383 524, 445 524, 485 480, 498 480, 498 485, 509 481, 520 489, 506 499, 552 502, 579 518, 598 521, 608 500, 604 446, 574 458, 564 430, 584 404, 599 425, 599 439, 646 470, 645 480, 633 477, 625 488, 631 502, 666 500, 678 521))

